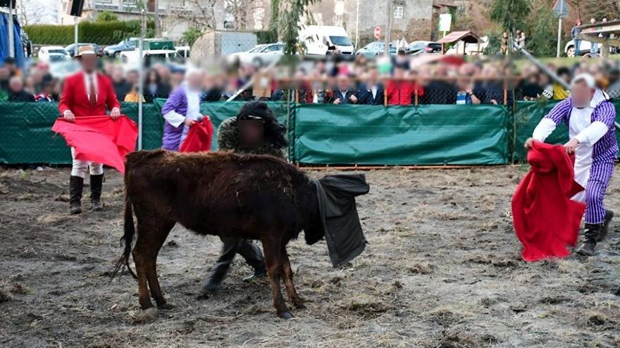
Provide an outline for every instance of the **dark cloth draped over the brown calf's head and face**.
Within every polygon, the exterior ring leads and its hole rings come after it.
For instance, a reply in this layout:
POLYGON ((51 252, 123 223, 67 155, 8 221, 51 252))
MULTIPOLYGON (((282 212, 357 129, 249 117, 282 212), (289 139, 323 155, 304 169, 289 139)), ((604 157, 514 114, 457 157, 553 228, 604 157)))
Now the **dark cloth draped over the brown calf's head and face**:
POLYGON ((355 197, 368 193, 370 186, 364 174, 330 175, 315 183, 330 259, 335 268, 340 267, 366 247, 355 197))

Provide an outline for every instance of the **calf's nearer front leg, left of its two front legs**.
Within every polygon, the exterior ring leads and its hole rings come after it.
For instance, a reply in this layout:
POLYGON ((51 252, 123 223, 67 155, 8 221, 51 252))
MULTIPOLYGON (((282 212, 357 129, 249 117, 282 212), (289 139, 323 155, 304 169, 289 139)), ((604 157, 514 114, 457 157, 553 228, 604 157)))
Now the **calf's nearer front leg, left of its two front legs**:
MULTIPOLYGON (((266 233, 270 235, 271 233, 266 233)), ((275 234, 271 234, 275 236, 275 234)), ((263 238, 263 250, 265 251, 265 263, 269 273, 269 285, 273 296, 273 307, 280 318, 290 319, 292 314, 284 304, 282 291, 280 291, 280 278, 282 277, 282 247, 279 240, 263 238)))

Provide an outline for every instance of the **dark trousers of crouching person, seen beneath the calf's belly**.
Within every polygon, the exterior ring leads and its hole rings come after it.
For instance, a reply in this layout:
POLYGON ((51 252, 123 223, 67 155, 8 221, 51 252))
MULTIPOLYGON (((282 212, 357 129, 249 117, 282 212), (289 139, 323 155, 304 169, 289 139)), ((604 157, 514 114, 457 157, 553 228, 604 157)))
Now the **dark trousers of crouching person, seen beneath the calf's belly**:
POLYGON ((254 269, 265 268, 263 252, 261 252, 259 245, 256 245, 252 240, 231 237, 220 237, 220 239, 224 245, 213 271, 213 277, 223 278, 225 276, 230 264, 235 259, 235 254, 240 254, 245 262, 254 269))

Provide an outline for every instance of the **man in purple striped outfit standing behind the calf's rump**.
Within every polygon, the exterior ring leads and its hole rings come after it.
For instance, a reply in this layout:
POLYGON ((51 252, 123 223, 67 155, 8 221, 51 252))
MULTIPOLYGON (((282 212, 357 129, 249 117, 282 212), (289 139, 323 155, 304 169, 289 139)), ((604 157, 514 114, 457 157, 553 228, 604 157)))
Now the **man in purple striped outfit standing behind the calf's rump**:
POLYGON ((161 139, 161 147, 164 150, 178 151, 190 127, 202 120, 203 116, 200 114, 202 76, 201 70, 188 67, 185 82, 172 92, 161 108, 161 115, 166 120, 161 139))

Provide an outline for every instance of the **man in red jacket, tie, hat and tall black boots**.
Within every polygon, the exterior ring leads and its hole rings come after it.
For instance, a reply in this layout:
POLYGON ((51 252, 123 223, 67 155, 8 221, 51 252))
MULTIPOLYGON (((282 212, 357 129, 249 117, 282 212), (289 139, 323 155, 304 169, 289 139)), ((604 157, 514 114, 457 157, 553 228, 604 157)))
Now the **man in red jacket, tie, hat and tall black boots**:
MULTIPOLYGON (((65 80, 58 109, 62 117, 74 122, 76 117, 106 115, 116 120, 120 116, 120 103, 110 79, 97 72, 97 53, 92 46, 82 46, 76 58, 82 69, 65 80)), ((104 166, 101 163, 77 160, 75 149, 71 148, 73 169, 69 180, 70 214, 82 212, 82 188, 86 171, 90 169, 90 202, 93 211, 103 210, 101 204, 101 187, 104 181, 104 166)))

